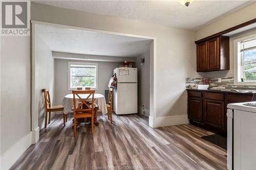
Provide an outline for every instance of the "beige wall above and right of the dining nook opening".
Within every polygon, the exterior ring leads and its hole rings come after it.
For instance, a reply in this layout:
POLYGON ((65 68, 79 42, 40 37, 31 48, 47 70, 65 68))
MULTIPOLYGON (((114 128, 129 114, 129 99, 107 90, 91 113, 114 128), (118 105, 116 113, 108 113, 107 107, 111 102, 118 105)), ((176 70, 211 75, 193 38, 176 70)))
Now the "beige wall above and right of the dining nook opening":
POLYGON ((157 38, 156 116, 186 115, 186 77, 196 72, 195 32, 31 3, 33 20, 157 38), (185 106, 185 107, 184 107, 185 106))

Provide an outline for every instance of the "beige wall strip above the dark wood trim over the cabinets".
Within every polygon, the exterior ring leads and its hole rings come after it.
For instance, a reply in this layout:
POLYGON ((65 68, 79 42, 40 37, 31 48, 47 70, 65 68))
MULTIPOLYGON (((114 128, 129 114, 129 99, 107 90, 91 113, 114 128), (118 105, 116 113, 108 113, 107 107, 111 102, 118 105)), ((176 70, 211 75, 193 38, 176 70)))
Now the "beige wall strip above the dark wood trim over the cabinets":
POLYGON ((256 18, 256 3, 234 12, 197 31, 196 39, 202 39, 256 18))

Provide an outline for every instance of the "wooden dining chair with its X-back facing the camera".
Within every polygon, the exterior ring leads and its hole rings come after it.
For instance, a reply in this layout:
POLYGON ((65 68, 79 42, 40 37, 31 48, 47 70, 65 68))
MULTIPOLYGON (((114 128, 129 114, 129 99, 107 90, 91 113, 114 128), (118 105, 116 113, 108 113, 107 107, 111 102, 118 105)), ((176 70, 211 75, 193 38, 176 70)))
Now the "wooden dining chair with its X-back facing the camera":
POLYGON ((74 136, 76 136, 76 123, 78 118, 91 117, 92 135, 94 134, 94 93, 95 90, 72 90, 74 105, 74 136), (80 94, 89 95, 86 99, 82 99, 80 94), (76 106, 76 96, 78 97, 78 106, 76 106), (92 101, 89 101, 90 96, 92 96, 92 101), (90 102, 92 103, 91 105, 89 105, 90 102), (86 107, 82 107, 82 105, 85 105, 86 107))

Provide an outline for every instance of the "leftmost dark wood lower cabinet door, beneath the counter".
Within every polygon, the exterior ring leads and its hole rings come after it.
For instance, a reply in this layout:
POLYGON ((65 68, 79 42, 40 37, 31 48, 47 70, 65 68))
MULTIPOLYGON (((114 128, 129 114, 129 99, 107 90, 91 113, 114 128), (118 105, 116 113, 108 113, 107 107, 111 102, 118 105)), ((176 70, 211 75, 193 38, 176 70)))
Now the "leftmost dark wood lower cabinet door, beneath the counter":
POLYGON ((202 99, 188 98, 188 118, 202 123, 202 99))

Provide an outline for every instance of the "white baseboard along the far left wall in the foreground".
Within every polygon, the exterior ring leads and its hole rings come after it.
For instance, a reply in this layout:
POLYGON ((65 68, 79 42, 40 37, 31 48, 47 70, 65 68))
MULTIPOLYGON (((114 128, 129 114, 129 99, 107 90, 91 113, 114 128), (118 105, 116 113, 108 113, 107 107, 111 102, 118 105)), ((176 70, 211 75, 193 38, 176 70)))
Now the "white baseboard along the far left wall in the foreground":
POLYGON ((9 169, 32 144, 32 131, 19 139, 0 157, 0 169, 9 169))

